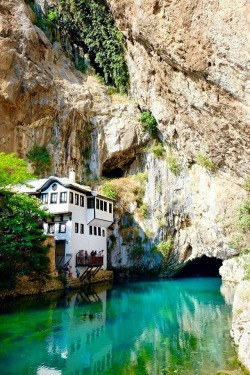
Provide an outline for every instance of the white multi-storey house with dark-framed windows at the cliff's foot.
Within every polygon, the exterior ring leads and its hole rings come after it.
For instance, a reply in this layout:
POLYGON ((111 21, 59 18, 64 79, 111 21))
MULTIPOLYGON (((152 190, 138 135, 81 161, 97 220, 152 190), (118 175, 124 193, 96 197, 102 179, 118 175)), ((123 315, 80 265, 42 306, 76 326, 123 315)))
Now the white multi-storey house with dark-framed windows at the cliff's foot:
POLYGON ((56 267, 69 262, 73 277, 76 266, 81 274, 90 264, 106 269, 107 228, 113 222, 114 201, 76 183, 74 170, 69 178, 52 176, 29 184, 33 188, 25 192, 35 194, 54 214, 50 222, 44 223, 44 230, 55 237, 56 267), (96 256, 91 257, 93 251, 96 256))

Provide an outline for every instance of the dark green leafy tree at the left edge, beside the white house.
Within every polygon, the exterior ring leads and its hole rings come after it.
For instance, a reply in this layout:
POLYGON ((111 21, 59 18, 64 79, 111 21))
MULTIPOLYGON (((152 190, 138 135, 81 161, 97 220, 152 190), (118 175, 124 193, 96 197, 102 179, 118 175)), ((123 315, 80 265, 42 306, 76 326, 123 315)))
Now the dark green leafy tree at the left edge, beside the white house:
POLYGON ((48 216, 37 198, 0 191, 0 286, 11 287, 19 275, 40 278, 47 272, 48 248, 41 220, 48 216))

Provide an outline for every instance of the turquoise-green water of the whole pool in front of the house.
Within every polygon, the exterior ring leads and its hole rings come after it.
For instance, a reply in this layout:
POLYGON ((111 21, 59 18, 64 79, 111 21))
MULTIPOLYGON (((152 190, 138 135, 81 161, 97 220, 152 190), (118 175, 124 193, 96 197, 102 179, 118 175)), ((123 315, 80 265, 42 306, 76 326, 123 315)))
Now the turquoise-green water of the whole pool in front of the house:
POLYGON ((0 373, 241 374, 220 279, 140 281, 0 307, 0 373))

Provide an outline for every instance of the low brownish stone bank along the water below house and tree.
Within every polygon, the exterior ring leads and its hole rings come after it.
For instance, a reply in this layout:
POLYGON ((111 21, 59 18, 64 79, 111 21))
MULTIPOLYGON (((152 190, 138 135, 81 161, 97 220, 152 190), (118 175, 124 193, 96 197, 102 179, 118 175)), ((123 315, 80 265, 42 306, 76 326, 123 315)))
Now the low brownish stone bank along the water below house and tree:
POLYGON ((110 282, 113 280, 112 271, 100 270, 93 278, 84 280, 82 283, 78 279, 69 278, 64 280, 60 276, 50 277, 48 279, 31 280, 28 276, 22 276, 17 281, 16 287, 10 290, 1 290, 0 299, 17 298, 33 294, 53 292, 63 289, 79 289, 82 286, 110 282))

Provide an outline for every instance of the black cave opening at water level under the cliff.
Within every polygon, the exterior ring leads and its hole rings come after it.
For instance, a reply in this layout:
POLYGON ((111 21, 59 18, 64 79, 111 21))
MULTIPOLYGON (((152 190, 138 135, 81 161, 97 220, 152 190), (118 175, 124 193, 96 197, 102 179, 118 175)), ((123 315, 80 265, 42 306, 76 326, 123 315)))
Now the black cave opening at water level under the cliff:
POLYGON ((209 258, 203 255, 201 258, 188 262, 176 277, 221 277, 219 274, 221 266, 222 259, 209 258))

